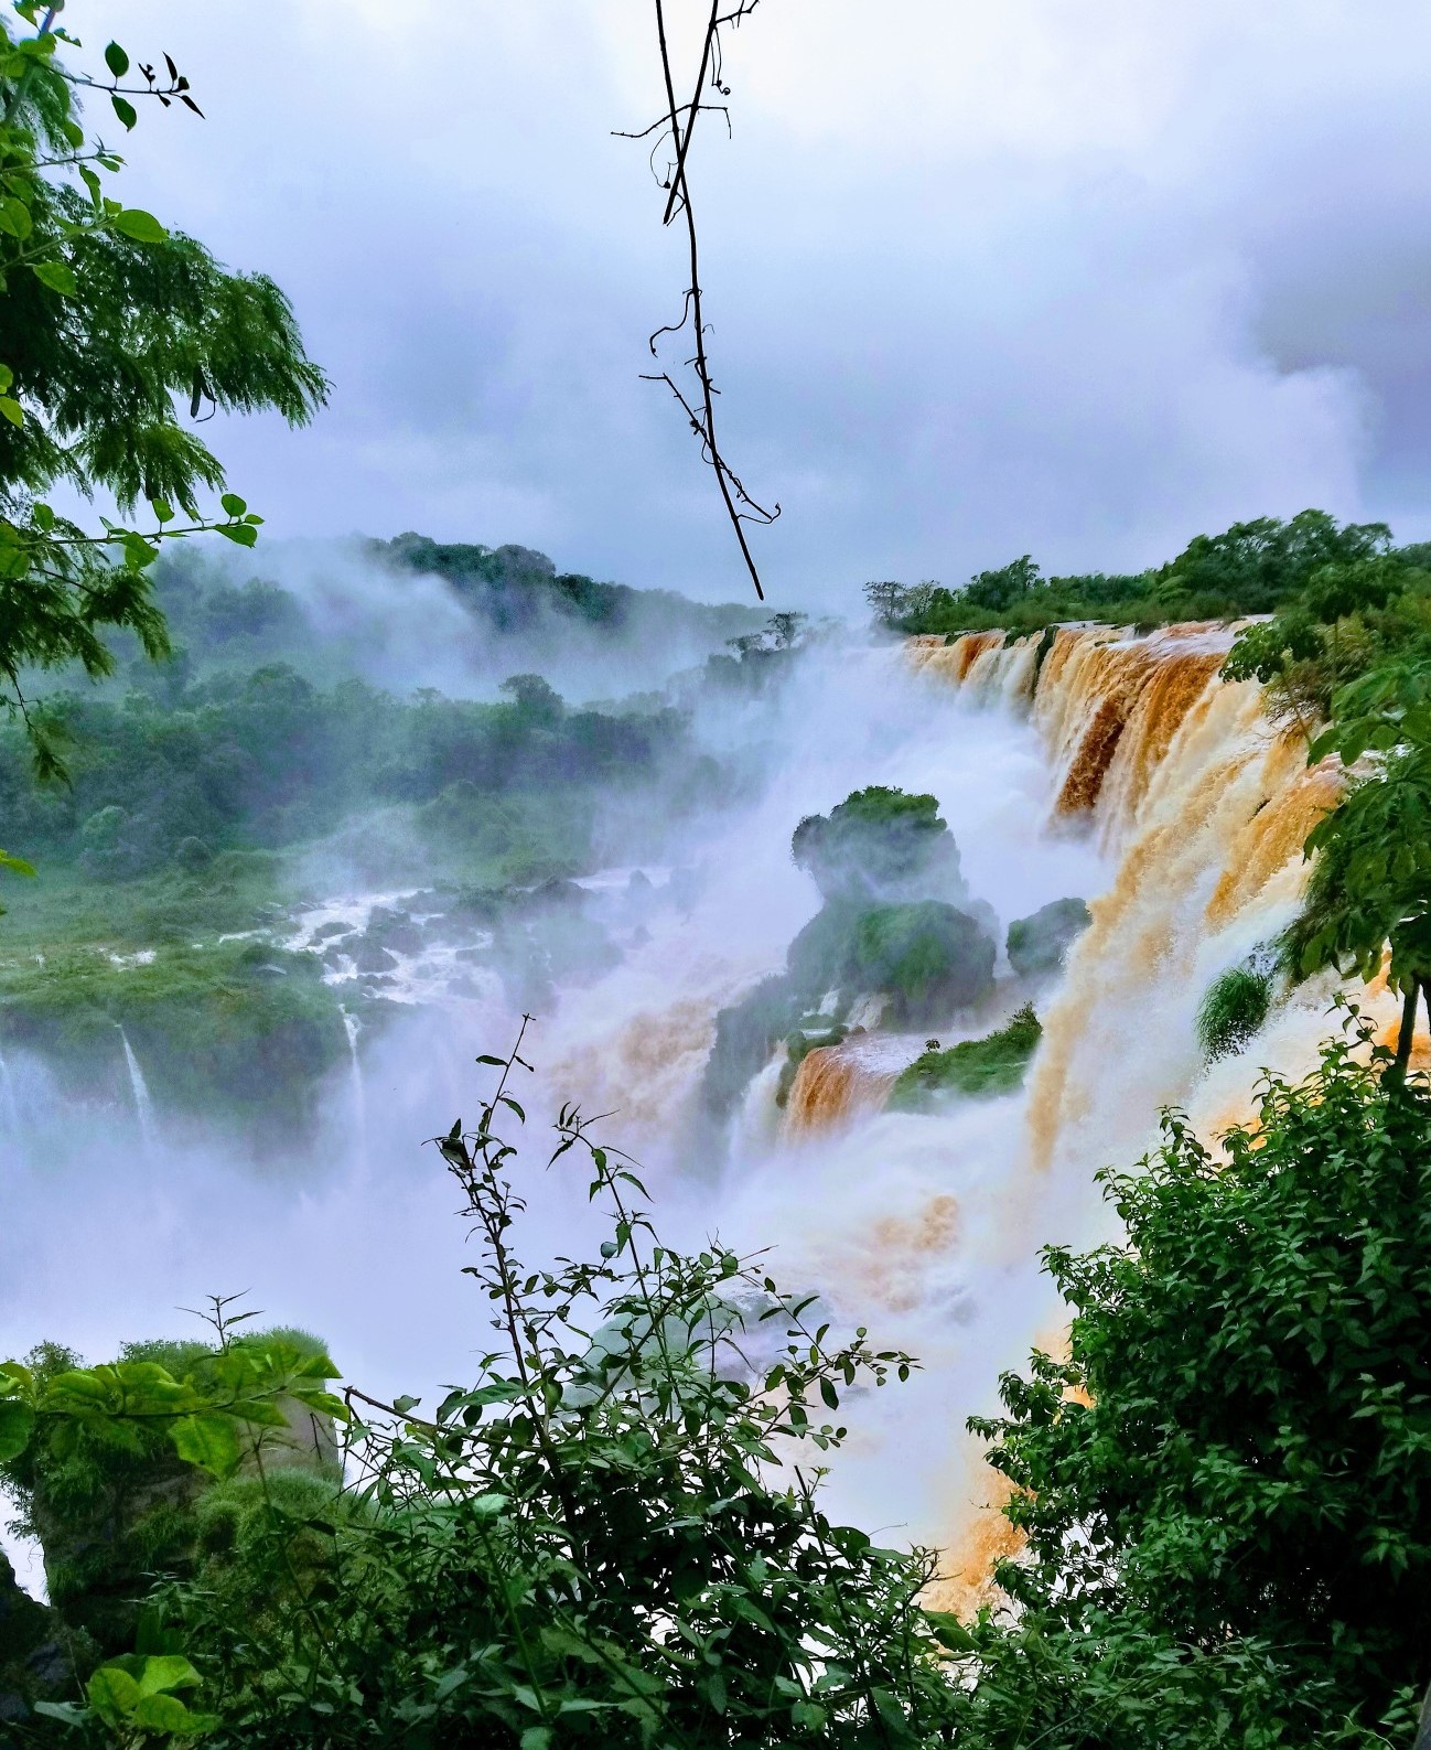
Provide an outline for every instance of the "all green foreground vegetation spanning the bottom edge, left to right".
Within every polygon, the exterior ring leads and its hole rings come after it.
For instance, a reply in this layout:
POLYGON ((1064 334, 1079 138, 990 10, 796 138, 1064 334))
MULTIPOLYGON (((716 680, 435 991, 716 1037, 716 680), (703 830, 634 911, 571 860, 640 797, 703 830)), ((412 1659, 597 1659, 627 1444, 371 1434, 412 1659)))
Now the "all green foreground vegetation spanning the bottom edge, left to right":
POLYGON ((801 1460, 845 1438, 850 1386, 915 1362, 757 1260, 663 1244, 572 1111, 553 1160, 581 1162, 570 1194, 590 1181, 609 1239, 525 1265, 532 1167, 499 1141, 523 1066, 493 1059, 478 1124, 443 1139, 500 1334, 471 1386, 334 1388, 313 1339, 245 1337, 222 1306, 208 1342, 0 1370, 0 1463, 58 1582, 49 1610, 0 1587, 16 1741, 1408 1743, 1431 1096, 1347 1020, 1226 1158, 1172 1113, 1106 1174, 1120 1244, 1046 1255, 1069 1351, 971 1423, 1022 1549, 967 1620, 920 1601, 932 1558, 833 1524, 801 1460), (343 1470, 297 1451, 292 1405, 338 1430, 343 1470))

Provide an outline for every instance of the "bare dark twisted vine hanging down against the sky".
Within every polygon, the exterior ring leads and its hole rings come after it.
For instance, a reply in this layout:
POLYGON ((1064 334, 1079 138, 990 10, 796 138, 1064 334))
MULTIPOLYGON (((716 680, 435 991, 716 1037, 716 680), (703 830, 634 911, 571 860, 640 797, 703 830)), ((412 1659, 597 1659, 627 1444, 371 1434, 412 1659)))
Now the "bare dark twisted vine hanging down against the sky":
POLYGON ((740 556, 745 560, 745 569, 750 572, 756 595, 764 600, 759 570, 756 569, 750 544, 745 539, 743 525, 757 523, 768 527, 780 514, 780 506, 777 504, 773 509, 766 509, 750 497, 742 485, 740 476, 729 462, 726 462, 716 439, 716 397, 721 390, 710 378, 710 357, 705 345, 707 322, 702 306, 700 245, 696 240, 696 215, 691 203, 691 184, 688 178, 691 138, 696 131, 698 116, 703 110, 724 116, 726 130, 729 131, 728 107, 724 103, 705 102, 709 93, 716 93, 722 98, 729 96, 729 86, 724 82, 722 74, 721 32, 726 26, 738 26, 756 10, 761 0, 712 0, 710 18, 702 40, 700 70, 696 72, 695 93, 689 103, 677 103, 675 75, 670 61, 670 42, 667 38, 665 5, 663 0, 654 0, 656 40, 661 51, 667 112, 660 121, 654 121, 649 128, 640 130, 640 133, 621 133, 619 138, 647 140, 654 135, 654 144, 651 147, 651 170, 661 187, 668 191, 661 224, 674 224, 677 219, 684 219, 686 240, 689 245, 691 280, 682 298, 681 318, 658 327, 649 338, 649 346, 651 357, 660 360, 656 343, 661 336, 689 332, 695 352, 684 360, 684 368, 695 373, 695 392, 688 394, 670 371, 644 373, 644 382, 665 383, 672 396, 679 401, 686 418, 691 422, 691 430, 700 439, 702 457, 716 472, 716 483, 721 488, 721 500, 726 506, 726 514, 729 516, 731 528, 735 530, 735 539, 740 542, 740 556))

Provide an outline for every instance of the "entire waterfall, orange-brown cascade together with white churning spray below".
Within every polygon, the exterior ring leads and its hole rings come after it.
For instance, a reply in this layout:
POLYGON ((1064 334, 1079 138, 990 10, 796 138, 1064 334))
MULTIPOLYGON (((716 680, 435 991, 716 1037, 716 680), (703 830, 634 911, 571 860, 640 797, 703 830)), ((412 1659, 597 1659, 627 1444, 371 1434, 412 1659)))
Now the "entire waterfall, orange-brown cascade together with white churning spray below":
MULTIPOLYGON (((539 1066, 525 1096, 539 1155, 523 1186, 528 1255, 595 1237, 584 1181, 541 1172, 541 1115, 577 1099, 612 1113, 604 1132, 642 1160, 674 1241, 719 1228, 728 1244, 771 1246, 784 1281, 924 1360, 908 1386, 847 1405, 833 1507, 890 1540, 941 1544, 955 1603, 976 1592, 999 1535, 980 1514, 990 1477, 964 1418, 990 1409, 997 1374, 1030 1344, 1057 1344, 1065 1321, 1039 1246, 1111 1234, 1093 1174, 1149 1146, 1162 1104, 1212 1136, 1247 1113, 1261 1064, 1300 1073, 1331 1029, 1330 985, 1309 985, 1249 1052, 1212 1069, 1198 1057, 1202 992, 1293 914, 1302 840, 1333 793, 1268 726, 1256 688, 1216 679, 1225 649, 1226 634, 1172 628, 1065 630, 1041 665, 1039 640, 1006 648, 999 634, 812 653, 778 707, 728 726, 736 749, 768 738, 768 780, 752 807, 684 847, 695 901, 656 903, 623 961, 560 990, 525 1048, 539 1066), (1041 1003, 1027 1088, 941 1116, 885 1113, 890 1076, 922 1041, 871 1034, 843 1055, 812 1054, 784 1116, 771 1064, 729 1138, 712 1139, 695 1108, 716 1012, 782 966, 819 905, 791 863, 791 831, 866 784, 939 798, 969 889, 1001 929, 1051 900, 1090 900, 1093 924, 1041 1003)), ((665 873, 651 878, 660 901, 665 873)), ((334 901, 322 915, 373 903, 334 901)), ((443 964, 401 964, 408 1017, 367 1041, 362 1064, 348 1029, 346 1094, 301 1171, 170 1160, 157 1239, 93 1162, 63 1185, 21 1174, 17 1220, 0 1239, 7 1348, 58 1335, 112 1353, 122 1337, 173 1330, 175 1304, 252 1284, 255 1306, 322 1330, 369 1388, 467 1377, 485 1314, 460 1276, 450 1188, 420 1139, 458 1116, 455 1094, 471 1115, 486 1071, 453 1088, 453 1062, 504 1050, 514 1015, 495 985, 460 984, 443 964), (360 1096, 367 1169, 343 1146, 360 1096), (136 1256, 143 1270, 126 1267, 136 1256)), ((1372 1001, 1379 1020, 1394 1018, 1386 998, 1372 1001)), ((971 1017, 945 1043, 1002 1018, 971 1017)))

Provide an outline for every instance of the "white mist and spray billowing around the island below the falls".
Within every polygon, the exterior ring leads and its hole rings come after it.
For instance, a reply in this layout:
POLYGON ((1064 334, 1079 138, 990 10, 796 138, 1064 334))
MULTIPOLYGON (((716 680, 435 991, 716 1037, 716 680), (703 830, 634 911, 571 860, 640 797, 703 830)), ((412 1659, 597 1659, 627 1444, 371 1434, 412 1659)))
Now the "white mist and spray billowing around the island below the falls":
MULTIPOLYGON (((1022 1097, 932 1122, 871 1111, 815 1148, 782 1134, 764 1076, 712 1130, 700 1085, 716 1013, 780 970, 820 905, 791 859, 794 826, 866 784, 938 796, 969 892, 1001 934, 1050 900, 1095 892, 1106 866, 1085 838, 1046 835, 1051 779, 1032 724, 913 676, 896 648, 813 642, 791 653, 778 679, 717 693, 698 716, 712 747, 738 754, 740 782, 696 816, 667 808, 663 835, 647 822, 642 858, 621 856, 609 822, 611 864, 579 877, 572 896, 602 929, 602 956, 570 952, 565 906, 537 924, 556 934, 546 938, 549 982, 532 1003, 523 1052, 537 1068, 521 1096, 525 1248, 544 1258, 598 1237, 570 1157, 551 1172, 544 1160, 563 1101, 609 1115, 600 1134, 640 1162, 668 1237, 698 1242, 719 1230, 729 1244, 770 1246, 777 1278, 925 1356, 929 1370, 901 1388, 897 1405, 852 1410, 859 1437, 836 1475, 841 1510, 931 1538, 946 1510, 946 1447, 962 1416, 987 1407, 988 1354, 1016 1360, 1022 1300, 1039 1293, 1032 1248, 1016 1290, 974 1262, 988 1223, 981 1206, 997 1199, 1020 1150, 1022 1097), (960 1213, 941 1227, 950 1200, 960 1213), (889 1463, 890 1440, 904 1447, 901 1466, 889 1463)), ((182 1334, 189 1321, 177 1307, 245 1290, 268 1318, 322 1332, 364 1390, 429 1393, 471 1376, 486 1314, 460 1274, 455 1186, 423 1141, 474 1113, 490 1074, 474 1057, 516 1038, 530 987, 513 978, 499 943, 474 945, 528 929, 530 917, 443 917, 441 894, 364 891, 360 873, 332 858, 310 856, 303 882, 282 940, 327 950, 345 1015, 366 1017, 350 1029, 352 1055, 325 1073, 306 1134, 266 1134, 255 1146, 222 1120, 166 1111, 163 1099, 142 1125, 117 1032, 112 1078, 89 1101, 66 1094, 44 1057, 5 1046, 0 1125, 17 1153, 0 1239, 7 1353, 51 1337, 107 1356, 126 1339, 182 1334), (345 940, 364 942, 369 920, 394 906, 423 919, 422 940, 392 956, 381 1001, 364 1010, 366 978, 350 970, 345 940)), ((948 1022, 945 1036, 957 1038, 959 1018, 948 1022)), ((971 1017, 962 1031, 980 1026, 971 1017)), ((918 1048, 892 1043, 904 1059, 918 1048)), ((156 1087, 157 1069, 147 1066, 156 1087)))

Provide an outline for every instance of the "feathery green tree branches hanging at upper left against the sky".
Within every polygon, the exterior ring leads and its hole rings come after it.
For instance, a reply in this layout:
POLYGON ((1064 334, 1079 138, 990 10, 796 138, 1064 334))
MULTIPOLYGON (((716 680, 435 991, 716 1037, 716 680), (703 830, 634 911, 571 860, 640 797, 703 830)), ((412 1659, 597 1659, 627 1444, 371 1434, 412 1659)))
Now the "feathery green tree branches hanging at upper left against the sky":
POLYGON ((152 68, 140 68, 145 84, 124 84, 129 56, 110 44, 110 79, 96 86, 70 65, 79 44, 54 26, 58 7, 40 10, 17 0, 23 28, 0 21, 0 676, 52 775, 61 754, 26 712, 21 670, 107 674, 112 626, 161 656, 149 581, 159 542, 199 530, 257 539, 262 518, 224 492, 192 429, 199 408, 275 408, 304 424, 327 385, 271 280, 226 271, 201 243, 105 194, 122 159, 86 136, 77 88, 108 89, 133 128, 133 94, 196 110, 187 80, 170 63, 168 88, 152 68), (89 534, 47 502, 54 488, 112 497, 126 518, 147 500, 152 527, 101 518, 103 532, 89 534), (205 516, 198 500, 210 492, 220 513, 205 516))

